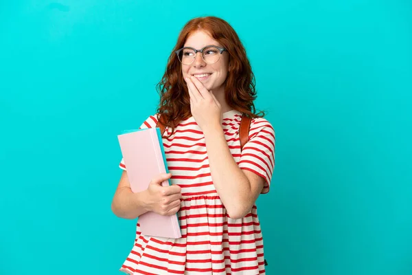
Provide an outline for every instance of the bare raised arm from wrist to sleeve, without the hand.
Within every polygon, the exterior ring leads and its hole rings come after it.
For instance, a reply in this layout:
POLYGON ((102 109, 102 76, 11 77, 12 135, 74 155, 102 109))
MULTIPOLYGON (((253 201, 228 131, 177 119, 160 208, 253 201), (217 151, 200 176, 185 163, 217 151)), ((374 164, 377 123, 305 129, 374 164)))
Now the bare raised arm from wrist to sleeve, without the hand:
POLYGON ((203 130, 214 186, 227 214, 233 219, 244 217, 262 192, 264 179, 249 170, 242 170, 231 155, 220 124, 203 130))

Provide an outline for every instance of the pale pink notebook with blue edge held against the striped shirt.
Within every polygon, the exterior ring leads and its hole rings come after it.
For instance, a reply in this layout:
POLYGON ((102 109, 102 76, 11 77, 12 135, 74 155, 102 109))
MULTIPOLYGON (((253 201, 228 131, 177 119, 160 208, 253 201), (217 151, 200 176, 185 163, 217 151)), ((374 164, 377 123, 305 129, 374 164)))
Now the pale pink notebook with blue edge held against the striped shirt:
MULTIPOLYGON (((124 131, 117 136, 133 192, 146 190, 153 177, 160 173, 169 173, 160 135, 159 128, 151 128, 124 131)), ((168 180, 162 182, 162 186, 169 184, 168 180)), ((177 214, 163 216, 156 212, 146 212, 138 220, 141 234, 181 238, 177 214)))

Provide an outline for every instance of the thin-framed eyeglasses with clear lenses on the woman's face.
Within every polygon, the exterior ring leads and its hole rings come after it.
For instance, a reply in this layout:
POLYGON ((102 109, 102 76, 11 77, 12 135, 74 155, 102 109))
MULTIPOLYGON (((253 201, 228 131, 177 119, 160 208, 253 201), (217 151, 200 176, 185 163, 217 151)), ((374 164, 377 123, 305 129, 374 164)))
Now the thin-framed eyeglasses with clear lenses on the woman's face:
POLYGON ((177 50, 175 53, 179 58, 179 61, 183 65, 190 65, 196 59, 196 54, 200 52, 202 54, 202 59, 207 64, 214 64, 219 61, 222 52, 227 52, 224 47, 218 47, 214 45, 207 45, 201 50, 196 50, 192 47, 183 47, 177 50))

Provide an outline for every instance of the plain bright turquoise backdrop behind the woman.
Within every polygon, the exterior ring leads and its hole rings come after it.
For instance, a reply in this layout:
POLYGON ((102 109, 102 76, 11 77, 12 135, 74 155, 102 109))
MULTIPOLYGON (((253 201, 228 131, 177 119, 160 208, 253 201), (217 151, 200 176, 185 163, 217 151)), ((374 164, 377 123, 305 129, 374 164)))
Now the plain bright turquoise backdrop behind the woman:
POLYGON ((203 15, 240 35, 277 133, 267 274, 412 274, 407 0, 1 0, 0 274, 120 274, 117 134, 203 15))

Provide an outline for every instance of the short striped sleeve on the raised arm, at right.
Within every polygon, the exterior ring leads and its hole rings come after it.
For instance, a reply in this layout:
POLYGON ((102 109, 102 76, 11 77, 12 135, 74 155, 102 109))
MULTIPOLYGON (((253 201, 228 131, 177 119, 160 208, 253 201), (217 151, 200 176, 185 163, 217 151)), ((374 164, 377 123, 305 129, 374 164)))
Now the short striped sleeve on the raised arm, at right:
POLYGON ((249 129, 249 141, 244 144, 239 167, 265 179, 262 194, 269 192, 275 168, 275 130, 268 120, 255 118, 249 129))

